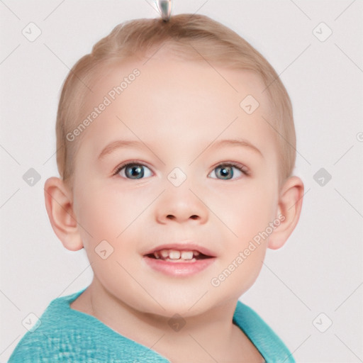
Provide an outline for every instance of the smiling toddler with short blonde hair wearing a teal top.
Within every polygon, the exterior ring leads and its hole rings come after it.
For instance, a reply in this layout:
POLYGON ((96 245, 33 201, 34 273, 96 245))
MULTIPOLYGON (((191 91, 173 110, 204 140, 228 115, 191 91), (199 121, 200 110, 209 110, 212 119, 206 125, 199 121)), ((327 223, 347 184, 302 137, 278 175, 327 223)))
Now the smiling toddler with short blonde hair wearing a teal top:
POLYGON ((45 205, 94 279, 9 362, 294 362, 238 301, 303 196, 291 102, 259 52, 207 16, 128 21, 69 72, 56 131, 45 205))

